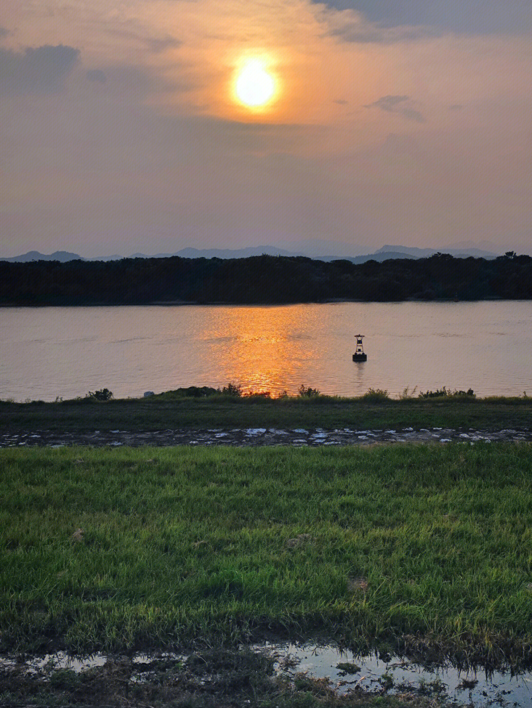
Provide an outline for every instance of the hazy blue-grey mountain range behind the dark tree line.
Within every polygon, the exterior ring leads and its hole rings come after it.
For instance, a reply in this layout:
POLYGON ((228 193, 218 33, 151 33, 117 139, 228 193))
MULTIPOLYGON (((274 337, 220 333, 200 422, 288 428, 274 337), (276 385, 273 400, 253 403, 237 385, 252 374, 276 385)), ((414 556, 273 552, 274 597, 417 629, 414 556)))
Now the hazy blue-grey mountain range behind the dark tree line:
MULTIPOLYGON (((419 249, 410 246, 383 246, 374 253, 367 253, 363 256, 312 256, 317 261, 337 261, 345 260, 351 263, 366 263, 366 261, 388 261, 392 258, 429 258, 434 256, 434 253, 443 252, 450 253, 455 258, 497 258, 498 253, 485 251, 475 247, 468 248, 445 248, 438 251, 436 249, 419 249)), ((249 258, 249 256, 261 256, 264 253, 268 256, 307 256, 307 253, 285 251, 278 249, 276 246, 253 246, 245 249, 193 249, 186 248, 175 253, 154 253, 147 255, 146 253, 132 253, 131 256, 99 256, 96 258, 84 258, 77 253, 69 251, 55 251, 54 253, 46 254, 39 251, 28 251, 21 256, 13 256, 12 258, 0 258, 0 261, 9 261, 10 263, 28 263, 29 261, 118 261, 121 258, 170 258, 171 256, 180 256, 181 258, 249 258)))

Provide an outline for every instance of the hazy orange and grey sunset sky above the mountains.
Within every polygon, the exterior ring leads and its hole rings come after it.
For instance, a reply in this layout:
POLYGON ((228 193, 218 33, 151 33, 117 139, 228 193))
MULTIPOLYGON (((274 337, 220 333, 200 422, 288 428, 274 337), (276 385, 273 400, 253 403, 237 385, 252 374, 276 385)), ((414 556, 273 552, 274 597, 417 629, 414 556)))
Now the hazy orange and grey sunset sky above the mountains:
POLYGON ((4 0, 0 256, 532 253, 531 76, 531 0, 4 0))

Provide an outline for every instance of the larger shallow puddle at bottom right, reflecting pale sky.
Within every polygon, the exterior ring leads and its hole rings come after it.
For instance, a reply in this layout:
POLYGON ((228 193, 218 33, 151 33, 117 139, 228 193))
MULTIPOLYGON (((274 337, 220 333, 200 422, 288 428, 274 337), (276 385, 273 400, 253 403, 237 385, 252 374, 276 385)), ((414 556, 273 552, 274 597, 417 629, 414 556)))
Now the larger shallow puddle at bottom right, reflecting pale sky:
POLYGON ((386 687, 390 693, 410 690, 478 708, 532 705, 532 672, 511 675, 495 671, 488 675, 482 670, 458 670, 453 666, 424 668, 399 657, 387 661, 377 656, 361 657, 330 644, 266 642, 252 649, 273 656, 277 673, 328 678, 341 694, 358 689, 383 692, 386 687))

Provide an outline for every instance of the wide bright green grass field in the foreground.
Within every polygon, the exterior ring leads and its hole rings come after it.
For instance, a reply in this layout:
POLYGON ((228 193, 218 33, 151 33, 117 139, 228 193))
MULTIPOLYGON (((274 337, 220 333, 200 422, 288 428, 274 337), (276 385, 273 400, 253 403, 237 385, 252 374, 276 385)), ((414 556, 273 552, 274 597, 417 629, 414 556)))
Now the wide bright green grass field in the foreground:
POLYGON ((528 445, 33 448, 0 465, 3 651, 322 632, 532 658, 528 445))

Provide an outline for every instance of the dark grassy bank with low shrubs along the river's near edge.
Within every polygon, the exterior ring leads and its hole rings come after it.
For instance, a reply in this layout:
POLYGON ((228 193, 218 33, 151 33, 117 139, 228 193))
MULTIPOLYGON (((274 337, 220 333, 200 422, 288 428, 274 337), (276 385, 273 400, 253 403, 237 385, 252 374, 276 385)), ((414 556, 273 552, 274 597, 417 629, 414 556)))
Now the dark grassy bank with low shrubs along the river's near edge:
POLYGON ((0 401, 0 430, 164 430, 166 428, 516 428, 531 426, 532 397, 385 399, 334 396, 264 399, 191 398, 173 392, 147 399, 44 403, 0 401))

